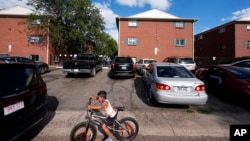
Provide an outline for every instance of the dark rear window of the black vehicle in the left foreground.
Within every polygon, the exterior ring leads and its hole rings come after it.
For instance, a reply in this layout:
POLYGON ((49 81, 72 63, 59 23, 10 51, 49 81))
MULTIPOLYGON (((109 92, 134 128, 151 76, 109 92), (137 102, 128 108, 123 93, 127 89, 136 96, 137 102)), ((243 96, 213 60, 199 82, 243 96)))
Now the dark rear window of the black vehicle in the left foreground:
POLYGON ((31 88, 37 84, 36 73, 32 67, 19 65, 4 66, 0 69, 0 97, 8 97, 31 88))

